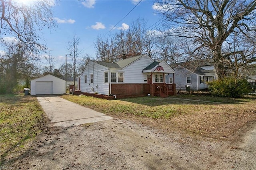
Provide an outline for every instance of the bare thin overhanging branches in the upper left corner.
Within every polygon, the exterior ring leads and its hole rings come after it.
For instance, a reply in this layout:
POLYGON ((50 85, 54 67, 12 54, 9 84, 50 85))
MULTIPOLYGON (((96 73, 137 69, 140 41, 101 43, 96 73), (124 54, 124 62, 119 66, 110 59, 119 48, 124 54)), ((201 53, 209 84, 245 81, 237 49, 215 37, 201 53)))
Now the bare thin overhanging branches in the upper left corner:
POLYGON ((38 31, 56 26, 52 8, 53 0, 32 1, 24 4, 15 0, 0 0, 0 39, 12 35, 29 49, 44 49, 38 43, 38 31))

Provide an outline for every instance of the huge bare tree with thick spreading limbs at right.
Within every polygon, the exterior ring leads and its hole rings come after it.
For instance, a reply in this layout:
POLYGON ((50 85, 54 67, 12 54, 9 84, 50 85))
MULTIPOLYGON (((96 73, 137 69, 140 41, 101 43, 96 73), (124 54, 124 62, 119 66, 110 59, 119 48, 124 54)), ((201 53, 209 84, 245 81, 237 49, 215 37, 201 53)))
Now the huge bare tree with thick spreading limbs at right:
POLYGON ((242 44, 242 40, 255 37, 255 0, 158 0, 155 5, 166 18, 168 35, 190 40, 188 56, 209 57, 204 52, 210 51, 218 78, 228 75, 227 70, 236 62, 234 55, 239 54, 246 64, 255 61, 255 54, 246 50, 255 43, 245 48, 242 44), (240 48, 228 45, 234 36, 240 48))

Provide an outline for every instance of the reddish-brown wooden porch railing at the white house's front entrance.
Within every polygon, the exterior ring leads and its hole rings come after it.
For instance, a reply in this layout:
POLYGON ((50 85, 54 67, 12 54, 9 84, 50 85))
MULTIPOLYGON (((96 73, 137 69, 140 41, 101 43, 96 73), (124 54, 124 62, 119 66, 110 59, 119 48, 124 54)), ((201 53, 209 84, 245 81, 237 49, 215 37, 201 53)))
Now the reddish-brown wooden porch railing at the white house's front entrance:
POLYGON ((176 84, 144 84, 143 90, 151 96, 168 97, 175 95, 176 84))

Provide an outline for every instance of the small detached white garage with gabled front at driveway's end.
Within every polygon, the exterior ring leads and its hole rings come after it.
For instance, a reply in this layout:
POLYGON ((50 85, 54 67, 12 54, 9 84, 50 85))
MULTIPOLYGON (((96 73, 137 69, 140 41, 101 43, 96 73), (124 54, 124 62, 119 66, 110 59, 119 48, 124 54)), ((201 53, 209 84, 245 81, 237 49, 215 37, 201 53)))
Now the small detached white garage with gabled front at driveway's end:
POLYGON ((31 95, 48 95, 66 93, 66 81, 53 75, 45 75, 30 81, 31 95))

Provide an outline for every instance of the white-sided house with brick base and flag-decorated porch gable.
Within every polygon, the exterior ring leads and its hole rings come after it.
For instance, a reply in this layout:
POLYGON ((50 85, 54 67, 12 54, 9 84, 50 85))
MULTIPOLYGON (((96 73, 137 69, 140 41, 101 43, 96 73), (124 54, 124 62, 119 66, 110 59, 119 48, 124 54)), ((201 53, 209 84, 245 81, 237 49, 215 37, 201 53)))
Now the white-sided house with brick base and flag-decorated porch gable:
POLYGON ((174 74, 174 69, 166 61, 154 61, 146 54, 115 63, 89 61, 78 76, 78 90, 116 98, 148 94, 167 97, 175 93, 174 82, 166 83, 168 74, 174 74))

